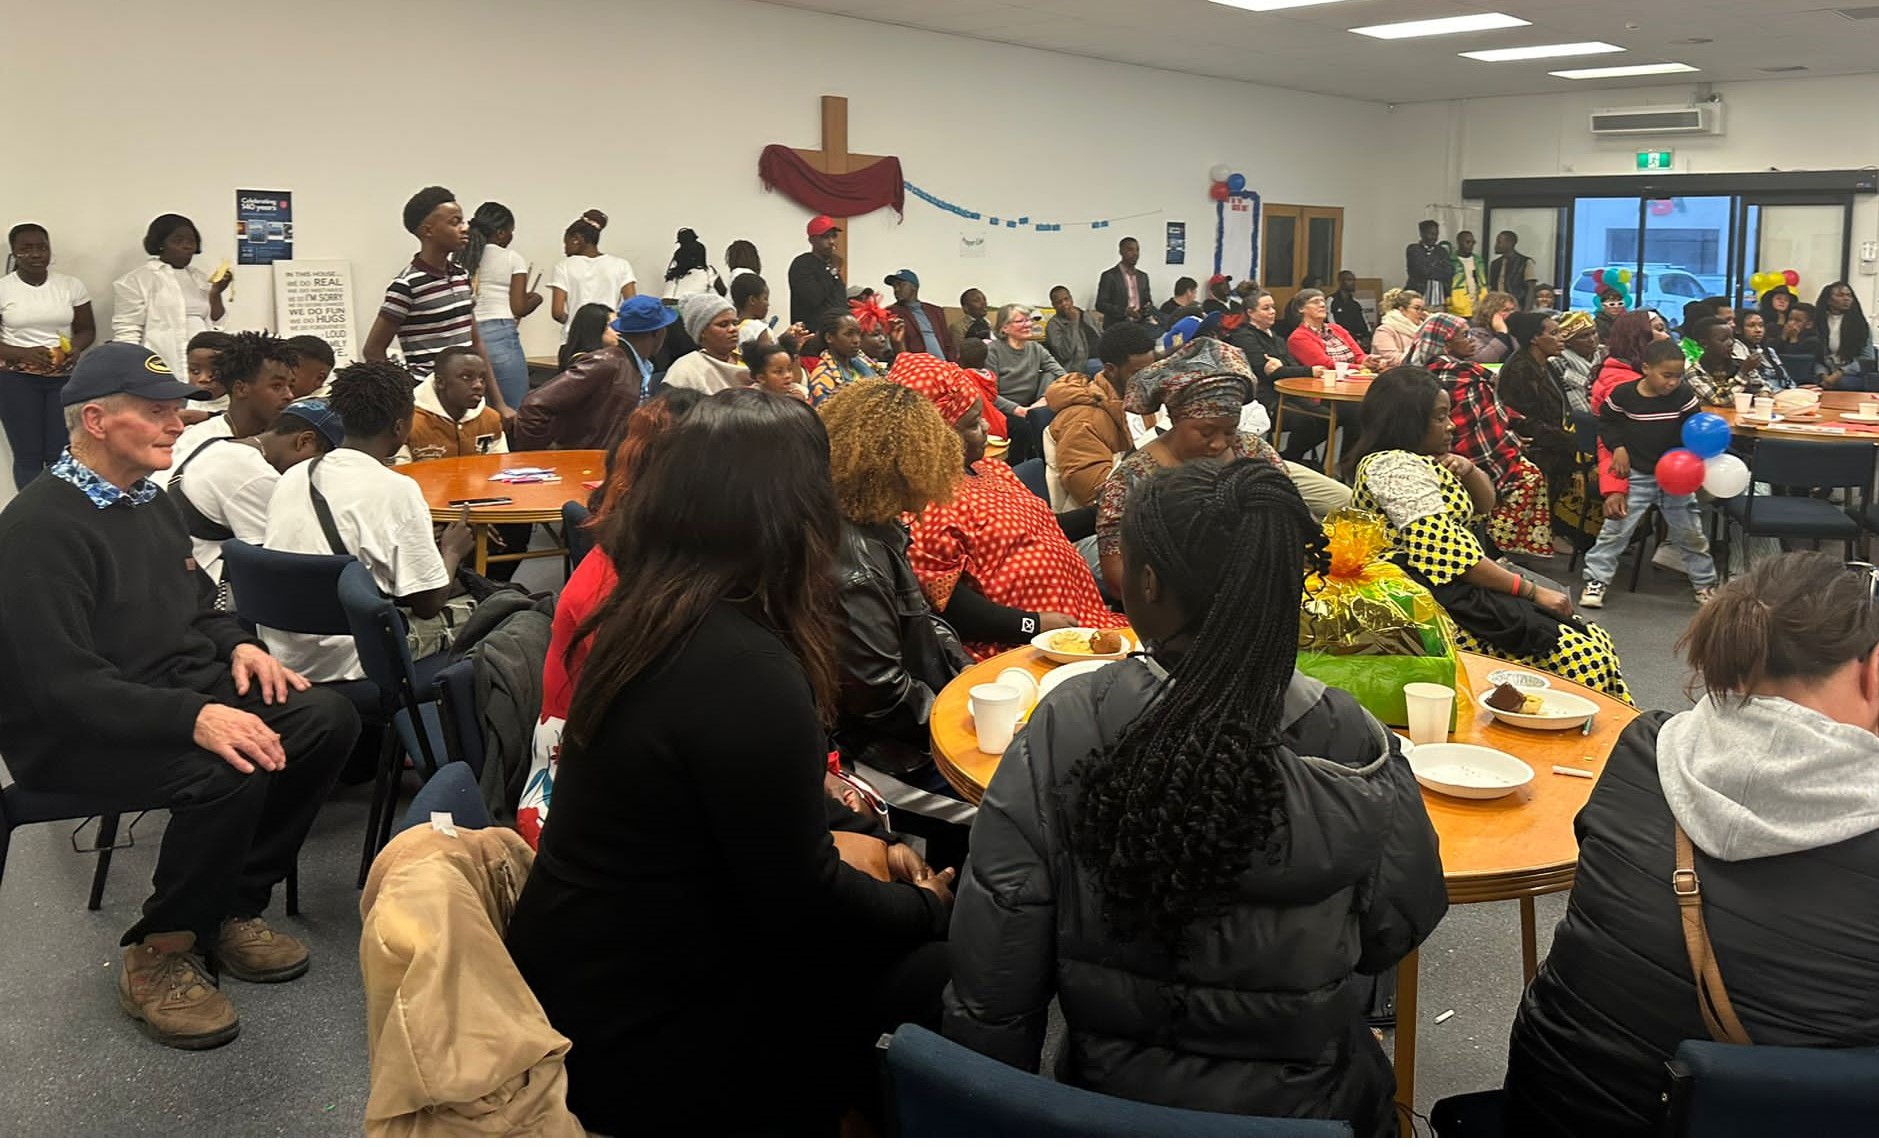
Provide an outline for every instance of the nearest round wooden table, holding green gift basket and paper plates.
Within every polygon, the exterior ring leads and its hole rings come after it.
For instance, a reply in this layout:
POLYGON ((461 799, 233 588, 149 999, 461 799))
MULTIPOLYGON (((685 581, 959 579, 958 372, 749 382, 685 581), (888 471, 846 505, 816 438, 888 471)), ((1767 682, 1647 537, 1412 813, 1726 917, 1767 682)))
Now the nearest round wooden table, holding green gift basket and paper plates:
MULTIPOLYGON (((966 698, 971 686, 985 684, 1013 666, 1033 677, 1056 668, 1035 649, 1015 649, 971 666, 934 701, 928 722, 934 763, 953 788, 973 803, 985 795, 1000 758, 979 752, 966 698)), ((1422 803, 1441 839, 1441 871, 1449 886, 1449 903, 1520 903, 1520 963, 1531 980, 1539 970, 1533 897, 1573 888, 1573 874, 1578 869, 1573 818, 1586 805, 1593 786, 1593 780, 1561 777, 1552 767, 1565 765, 1597 777, 1605 771, 1605 760, 1612 754, 1618 735, 1638 711, 1563 677, 1475 652, 1462 654, 1462 675, 1467 681, 1456 683, 1458 713, 1449 741, 1486 745, 1513 754, 1533 765, 1533 780, 1496 801, 1464 801, 1424 788, 1422 803), (1490 688, 1488 673, 1496 669, 1539 673, 1546 677, 1550 688, 1595 701, 1599 713, 1592 720, 1592 731, 1537 733, 1494 720, 1475 703, 1475 696, 1490 688)), ((1417 972, 1419 953, 1411 951, 1396 968, 1396 1098, 1404 1104, 1415 1100, 1417 972)))

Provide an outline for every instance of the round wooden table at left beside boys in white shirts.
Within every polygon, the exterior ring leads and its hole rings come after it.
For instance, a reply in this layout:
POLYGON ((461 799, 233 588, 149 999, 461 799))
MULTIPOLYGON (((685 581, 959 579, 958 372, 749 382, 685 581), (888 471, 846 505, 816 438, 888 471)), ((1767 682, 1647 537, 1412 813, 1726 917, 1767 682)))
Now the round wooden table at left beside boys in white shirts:
POLYGON ((517 453, 474 453, 457 459, 430 459, 425 463, 406 463, 400 472, 417 479, 417 489, 425 493, 425 506, 430 508, 430 521, 457 521, 462 506, 451 506, 458 498, 509 498, 507 506, 470 506, 470 528, 475 532, 475 572, 487 574, 489 562, 522 562, 567 553, 556 549, 532 549, 528 553, 489 553, 490 526, 513 526, 532 523, 560 523, 564 502, 586 502, 588 489, 582 481, 599 481, 607 472, 607 451, 601 449, 524 449, 517 453), (490 481, 490 474, 502 470, 536 466, 554 470, 560 481, 536 481, 513 485, 490 481))

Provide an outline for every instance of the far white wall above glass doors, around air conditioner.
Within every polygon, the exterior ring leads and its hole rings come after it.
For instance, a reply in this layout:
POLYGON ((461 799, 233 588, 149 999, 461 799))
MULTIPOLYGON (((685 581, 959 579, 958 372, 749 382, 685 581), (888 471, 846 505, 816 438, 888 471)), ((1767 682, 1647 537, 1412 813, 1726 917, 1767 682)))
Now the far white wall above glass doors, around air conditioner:
MULTIPOLYGON (((1669 147, 1676 171, 1825 171, 1871 167, 1879 162, 1879 117, 1873 77, 1779 79, 1716 85, 1725 105, 1723 135, 1631 135, 1593 139, 1588 113, 1601 107, 1661 107, 1689 103, 1691 85, 1404 103, 1385 113, 1390 169, 1396 188, 1377 203, 1375 226, 1394 237, 1402 261, 1426 203, 1454 201, 1464 179, 1635 175, 1637 152, 1669 147)), ((1479 205, 1477 205, 1479 207, 1479 205)), ((1879 280, 1858 275, 1858 244, 1879 239, 1879 197, 1860 196, 1853 207, 1853 288, 1871 308, 1879 280)), ((1392 263, 1394 265, 1394 263, 1392 263)), ((1819 288, 1825 284, 1811 284, 1819 288)))

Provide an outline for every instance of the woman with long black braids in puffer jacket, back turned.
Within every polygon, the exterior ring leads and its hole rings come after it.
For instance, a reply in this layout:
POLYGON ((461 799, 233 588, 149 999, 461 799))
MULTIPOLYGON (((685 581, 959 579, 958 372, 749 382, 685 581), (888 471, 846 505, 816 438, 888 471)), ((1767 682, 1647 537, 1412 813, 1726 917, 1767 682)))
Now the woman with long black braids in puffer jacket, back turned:
POLYGON ((1362 976, 1447 910, 1394 737, 1293 669, 1317 525, 1257 459, 1150 476, 1122 525, 1146 656, 1052 690, 1005 752, 953 910, 943 1030, 1109 1094, 1394 1130, 1362 976))

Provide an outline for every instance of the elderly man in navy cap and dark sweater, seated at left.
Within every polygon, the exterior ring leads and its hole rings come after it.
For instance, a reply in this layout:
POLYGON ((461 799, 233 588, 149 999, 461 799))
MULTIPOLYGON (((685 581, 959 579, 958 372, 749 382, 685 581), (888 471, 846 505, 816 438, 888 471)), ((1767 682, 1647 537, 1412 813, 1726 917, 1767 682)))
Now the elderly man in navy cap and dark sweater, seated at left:
POLYGON ((214 607, 150 481, 192 397, 205 395, 130 342, 71 372, 70 446, 0 511, 0 756, 30 792, 171 810, 118 1002, 160 1044, 216 1047, 241 1025, 205 961, 257 983, 306 972, 306 948, 261 912, 359 715, 214 607))

